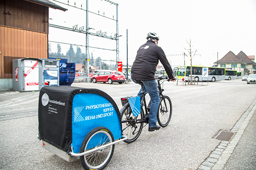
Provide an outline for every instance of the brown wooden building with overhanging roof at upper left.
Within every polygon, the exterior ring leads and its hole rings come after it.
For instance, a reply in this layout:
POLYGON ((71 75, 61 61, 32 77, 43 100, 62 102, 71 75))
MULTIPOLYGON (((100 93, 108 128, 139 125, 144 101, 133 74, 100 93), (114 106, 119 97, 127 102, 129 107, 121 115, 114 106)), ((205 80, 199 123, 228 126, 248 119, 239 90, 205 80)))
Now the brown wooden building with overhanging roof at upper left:
POLYGON ((48 58, 49 0, 0 0, 0 90, 12 89, 12 60, 48 58))

